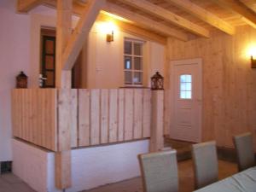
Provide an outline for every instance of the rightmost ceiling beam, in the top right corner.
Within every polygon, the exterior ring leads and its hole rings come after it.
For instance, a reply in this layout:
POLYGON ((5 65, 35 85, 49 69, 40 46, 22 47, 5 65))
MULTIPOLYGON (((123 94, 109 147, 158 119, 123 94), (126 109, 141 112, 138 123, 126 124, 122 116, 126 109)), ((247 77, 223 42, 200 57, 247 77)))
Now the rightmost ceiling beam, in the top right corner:
POLYGON ((232 12, 242 16, 247 25, 256 28, 256 14, 248 9, 247 6, 237 0, 212 0, 214 3, 218 3, 225 9, 230 9, 232 12))

